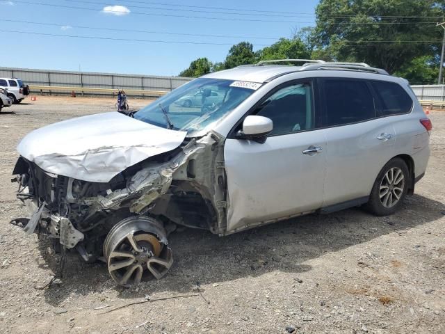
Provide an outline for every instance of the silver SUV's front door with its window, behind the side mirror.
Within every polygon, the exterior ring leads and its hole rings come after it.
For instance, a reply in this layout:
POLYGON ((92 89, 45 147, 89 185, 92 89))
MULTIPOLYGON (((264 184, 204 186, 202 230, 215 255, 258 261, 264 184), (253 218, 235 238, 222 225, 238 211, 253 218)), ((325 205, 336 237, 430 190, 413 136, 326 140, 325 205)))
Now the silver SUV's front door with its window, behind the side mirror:
POLYGON ((228 232, 323 205, 326 140, 317 129, 312 82, 275 88, 250 114, 273 120, 273 132, 265 143, 231 136, 225 142, 228 232))

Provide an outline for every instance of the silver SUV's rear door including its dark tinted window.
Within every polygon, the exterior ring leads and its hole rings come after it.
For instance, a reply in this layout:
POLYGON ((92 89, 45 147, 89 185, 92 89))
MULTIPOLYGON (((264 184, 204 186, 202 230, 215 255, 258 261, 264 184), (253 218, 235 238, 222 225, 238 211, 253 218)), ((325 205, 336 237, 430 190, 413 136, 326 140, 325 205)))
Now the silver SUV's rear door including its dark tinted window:
POLYGON ((394 126, 378 117, 378 100, 369 81, 319 80, 327 140, 323 206, 366 201, 381 168, 394 157, 394 126))

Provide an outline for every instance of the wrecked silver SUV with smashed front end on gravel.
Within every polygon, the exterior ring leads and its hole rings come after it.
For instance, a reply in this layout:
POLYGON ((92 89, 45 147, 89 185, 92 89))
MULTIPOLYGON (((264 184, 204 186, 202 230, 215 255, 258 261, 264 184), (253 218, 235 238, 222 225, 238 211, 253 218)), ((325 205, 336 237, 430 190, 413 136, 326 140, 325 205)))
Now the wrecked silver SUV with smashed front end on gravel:
POLYGON ((359 205, 393 214, 430 154, 431 122, 407 81, 301 62, 207 74, 129 116, 31 132, 13 171, 32 214, 24 230, 39 225, 56 249, 102 259, 131 285, 170 269, 176 225, 224 236, 359 205), (201 109, 178 103, 197 92, 201 109), (223 98, 207 104, 211 92, 223 98))

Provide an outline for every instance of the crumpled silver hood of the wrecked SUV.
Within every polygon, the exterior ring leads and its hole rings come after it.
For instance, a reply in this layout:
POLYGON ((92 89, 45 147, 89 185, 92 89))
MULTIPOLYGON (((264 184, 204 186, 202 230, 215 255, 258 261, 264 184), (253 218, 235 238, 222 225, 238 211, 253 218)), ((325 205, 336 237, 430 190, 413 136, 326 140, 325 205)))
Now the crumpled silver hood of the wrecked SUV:
POLYGON ((34 130, 17 151, 49 173, 108 182, 129 166, 174 150, 186 134, 118 112, 99 113, 34 130))

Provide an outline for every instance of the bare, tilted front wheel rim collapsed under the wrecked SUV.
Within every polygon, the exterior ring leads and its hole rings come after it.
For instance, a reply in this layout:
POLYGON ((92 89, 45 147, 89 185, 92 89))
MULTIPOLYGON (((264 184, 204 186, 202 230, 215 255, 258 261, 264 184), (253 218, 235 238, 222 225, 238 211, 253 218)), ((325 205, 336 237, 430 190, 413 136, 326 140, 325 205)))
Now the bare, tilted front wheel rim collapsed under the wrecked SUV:
POLYGON ((172 267, 167 233, 154 218, 133 216, 108 232, 104 256, 111 278, 119 285, 137 285, 141 280, 161 279, 172 267))

